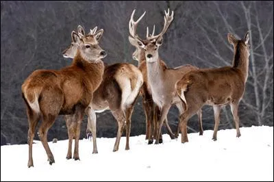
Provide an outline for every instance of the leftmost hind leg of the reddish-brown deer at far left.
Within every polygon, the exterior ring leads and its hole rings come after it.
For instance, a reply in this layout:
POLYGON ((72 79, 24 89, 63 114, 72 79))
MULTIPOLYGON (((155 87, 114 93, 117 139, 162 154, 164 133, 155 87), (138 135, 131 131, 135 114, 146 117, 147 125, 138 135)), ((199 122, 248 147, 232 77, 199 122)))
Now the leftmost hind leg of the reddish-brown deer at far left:
POLYGON ((29 131, 27 132, 27 143, 29 144, 29 161, 27 162, 27 167, 34 167, 34 161, 32 159, 32 143, 34 141, 35 129, 37 127, 38 121, 40 120, 40 115, 33 112, 27 106, 27 118, 29 120, 29 131))

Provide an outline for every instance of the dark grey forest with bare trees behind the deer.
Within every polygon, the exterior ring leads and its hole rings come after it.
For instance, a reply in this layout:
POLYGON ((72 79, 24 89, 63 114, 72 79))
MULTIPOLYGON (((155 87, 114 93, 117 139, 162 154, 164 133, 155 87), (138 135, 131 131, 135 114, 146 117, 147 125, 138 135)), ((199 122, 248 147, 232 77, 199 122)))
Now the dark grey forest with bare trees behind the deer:
MULTIPOLYGON (((137 30, 145 37, 147 26, 155 24, 156 34, 162 29, 167 8, 175 15, 159 52, 169 67, 231 65, 233 49, 227 33, 243 38, 249 30, 249 77, 239 108, 240 127, 273 126, 273 1, 1 1, 1 145, 27 143, 21 85, 34 70, 71 64, 70 59, 62 57, 62 50, 71 44, 71 31, 77 25, 86 32, 95 26, 104 29, 100 40, 108 52, 104 62, 137 66, 132 60, 134 47, 128 40, 132 11, 136 9, 136 17, 147 11, 137 30)), ((172 107, 168 119, 173 131, 177 117, 177 109, 172 107)), ((81 138, 85 137, 86 125, 85 117, 81 138)), ((210 106, 203 107, 203 128, 214 128, 210 106)), ((232 128, 234 121, 227 106, 221 112, 219 129, 232 128)), ((116 137, 116 129, 116 120, 109 111, 97 114, 99 138, 116 137)), ((195 115, 188 122, 188 132, 198 130, 195 115)), ((131 135, 140 134, 145 134, 145 114, 139 97, 131 135)), ((49 130, 48 140, 53 138, 68 138, 62 116, 49 130)))

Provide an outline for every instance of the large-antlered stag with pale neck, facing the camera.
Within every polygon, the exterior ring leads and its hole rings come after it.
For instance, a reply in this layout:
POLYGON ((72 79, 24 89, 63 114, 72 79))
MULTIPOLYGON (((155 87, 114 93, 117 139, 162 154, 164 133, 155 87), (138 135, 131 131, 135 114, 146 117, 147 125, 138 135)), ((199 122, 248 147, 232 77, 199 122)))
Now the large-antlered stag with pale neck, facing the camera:
MULTIPOLYGON (((138 22, 145 14, 140 16, 138 21, 134 21, 134 12, 135 10, 132 12, 132 16, 129 21, 129 42, 136 47, 136 51, 133 53, 133 57, 135 58, 135 60, 142 60, 139 64, 139 68, 142 70, 143 73, 145 82, 144 86, 147 86, 144 89, 145 94, 151 96, 153 102, 155 103, 155 105, 157 105, 158 108, 158 118, 156 118, 155 121, 154 137, 155 144, 159 144, 162 124, 163 122, 167 121, 166 116, 169 112, 171 105, 176 105, 179 110, 179 114, 182 114, 182 112, 184 112, 182 98, 176 92, 177 81, 182 79, 183 75, 185 75, 189 71, 197 70, 199 68, 190 64, 178 66, 177 68, 167 68, 166 64, 160 59, 158 55, 158 49, 163 42, 162 36, 173 21, 173 12, 171 15, 169 15, 169 10, 168 12, 164 11, 164 27, 162 29, 162 32, 157 36, 154 36, 155 25, 153 26, 152 34, 149 34, 149 28, 147 27, 147 38, 145 40, 141 39, 136 34, 136 27, 138 25, 138 22)), ((145 96, 143 96, 143 98, 145 98, 145 96)), ((201 109, 197 111, 197 114, 199 118, 199 134, 203 135, 201 109)), ((176 138, 179 135, 178 133, 179 127, 177 127, 177 132, 175 133, 176 138)), ((151 140, 150 143, 152 142, 153 140, 151 140)))

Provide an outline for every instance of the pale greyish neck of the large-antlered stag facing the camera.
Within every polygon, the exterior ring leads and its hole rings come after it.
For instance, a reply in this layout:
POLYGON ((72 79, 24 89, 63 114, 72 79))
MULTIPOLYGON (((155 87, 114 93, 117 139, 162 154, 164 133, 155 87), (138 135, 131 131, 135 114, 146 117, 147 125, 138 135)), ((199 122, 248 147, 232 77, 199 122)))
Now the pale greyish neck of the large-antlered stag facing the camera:
POLYGON ((163 78, 164 70, 157 53, 151 60, 147 60, 147 80, 151 88, 158 88, 159 84, 162 85, 163 78))

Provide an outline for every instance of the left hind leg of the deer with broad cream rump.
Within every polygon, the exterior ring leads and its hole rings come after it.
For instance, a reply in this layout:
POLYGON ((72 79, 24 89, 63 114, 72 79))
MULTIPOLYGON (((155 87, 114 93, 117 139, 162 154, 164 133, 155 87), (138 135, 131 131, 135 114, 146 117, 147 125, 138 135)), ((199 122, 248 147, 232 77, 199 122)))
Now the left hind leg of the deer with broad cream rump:
POLYGON ((123 129, 125 127, 125 116, 121 109, 118 109, 115 112, 112 112, 112 114, 118 122, 118 131, 117 131, 116 141, 115 141, 114 148, 113 148, 113 152, 116 152, 119 150, 119 143, 120 143, 121 135, 123 134, 123 129))

